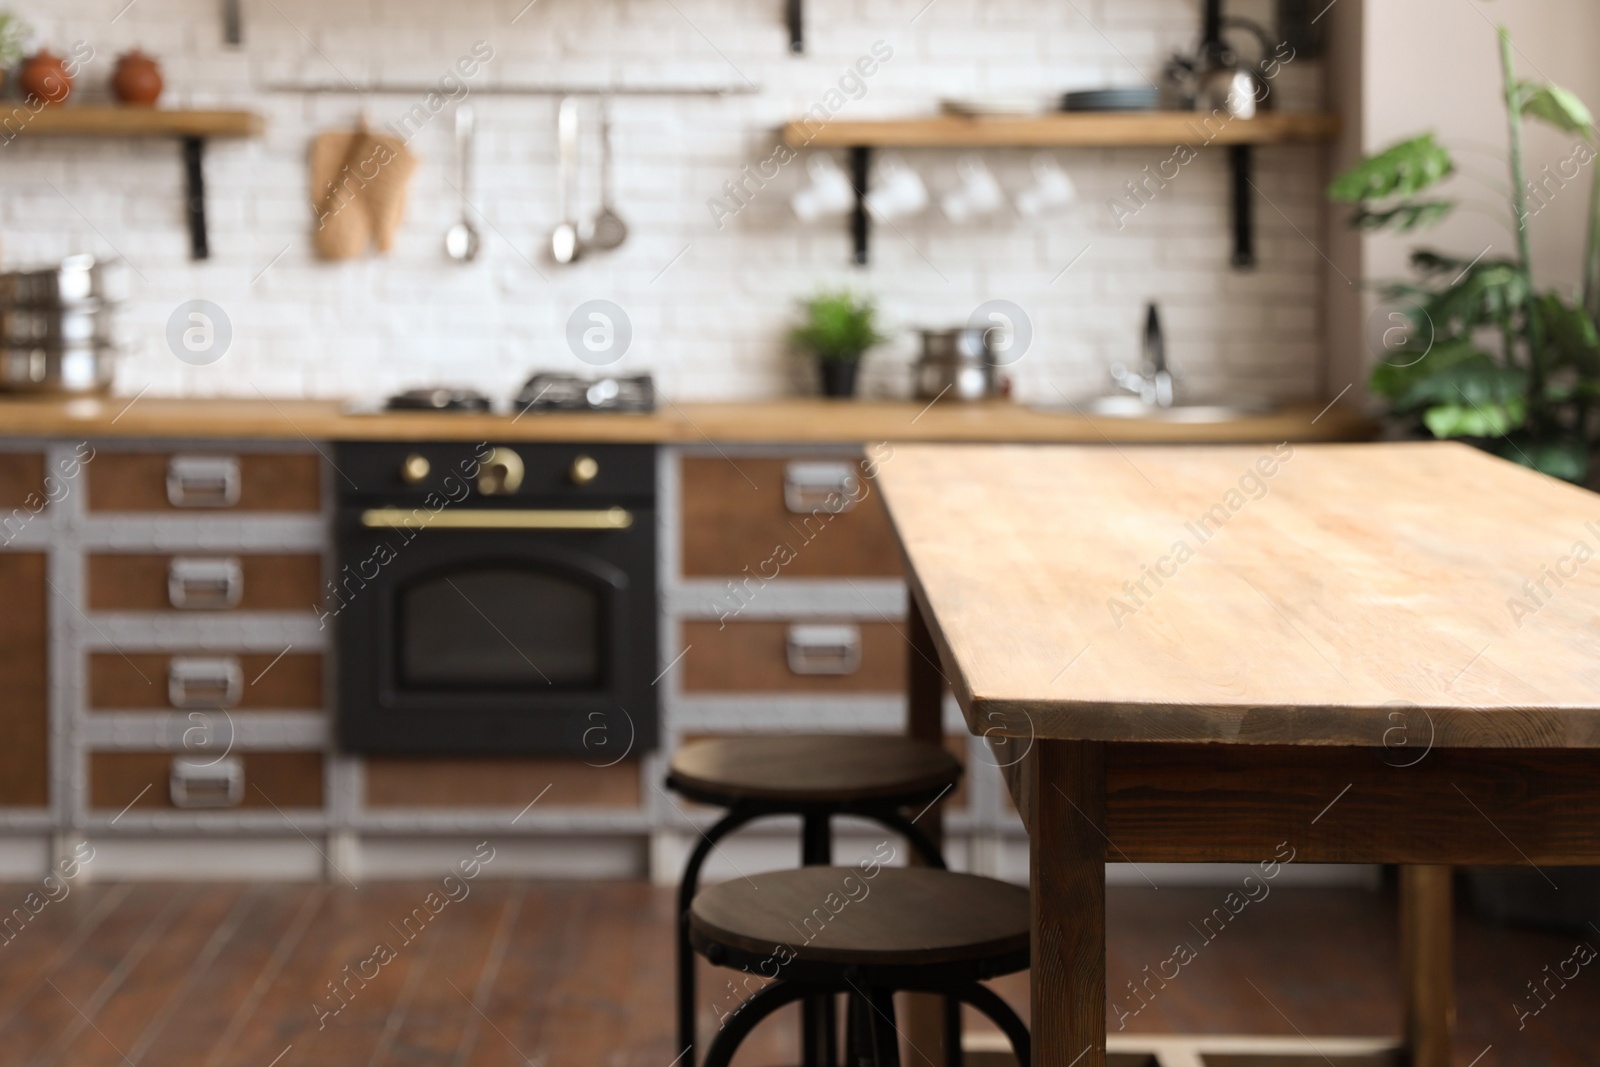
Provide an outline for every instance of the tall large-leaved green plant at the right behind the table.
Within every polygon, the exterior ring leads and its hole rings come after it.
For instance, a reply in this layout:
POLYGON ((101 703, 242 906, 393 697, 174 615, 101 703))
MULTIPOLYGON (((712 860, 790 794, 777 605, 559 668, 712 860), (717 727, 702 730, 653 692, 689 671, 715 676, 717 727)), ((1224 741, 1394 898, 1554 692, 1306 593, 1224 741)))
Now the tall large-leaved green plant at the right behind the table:
MULTIPOLYGON (((1477 259, 1416 250, 1416 280, 1389 285, 1402 325, 1386 334, 1370 387, 1413 432, 1469 440, 1506 459, 1568 482, 1586 482, 1600 443, 1600 181, 1590 189, 1582 294, 1538 291, 1528 251, 1530 197, 1544 187, 1523 168, 1523 120, 1578 136, 1578 160, 1595 160, 1595 130, 1582 101, 1555 85, 1518 80, 1510 35, 1499 30, 1510 133, 1514 254, 1477 259), (1392 344, 1390 344, 1392 341, 1392 344)), ((1410 234, 1448 216, 1456 203, 1424 195, 1454 173, 1450 152, 1427 133, 1362 160, 1334 178, 1328 197, 1357 206, 1352 224, 1410 234)))

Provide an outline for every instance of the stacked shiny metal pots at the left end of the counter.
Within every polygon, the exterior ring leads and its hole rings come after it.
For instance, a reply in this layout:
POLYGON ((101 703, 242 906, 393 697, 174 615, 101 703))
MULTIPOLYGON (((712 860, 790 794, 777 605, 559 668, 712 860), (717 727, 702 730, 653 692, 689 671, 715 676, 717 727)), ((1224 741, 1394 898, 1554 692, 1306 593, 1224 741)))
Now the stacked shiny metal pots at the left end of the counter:
POLYGON ((0 390, 109 389, 118 354, 112 318, 126 298, 126 267, 94 256, 0 274, 0 390))

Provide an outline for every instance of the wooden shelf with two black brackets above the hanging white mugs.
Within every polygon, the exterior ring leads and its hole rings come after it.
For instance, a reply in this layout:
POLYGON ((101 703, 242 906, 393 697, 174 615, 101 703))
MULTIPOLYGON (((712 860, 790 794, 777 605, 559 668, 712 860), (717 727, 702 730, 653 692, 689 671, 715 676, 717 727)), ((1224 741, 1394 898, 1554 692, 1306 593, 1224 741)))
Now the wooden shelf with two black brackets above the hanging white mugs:
POLYGON ((1339 117, 1266 112, 1256 118, 1224 118, 1203 112, 1054 112, 1048 115, 936 115, 877 122, 805 120, 784 123, 784 144, 794 149, 850 149, 850 178, 856 187, 851 235, 858 264, 867 262, 867 178, 874 149, 1094 149, 1163 147, 1184 144, 1203 150, 1222 146, 1234 174, 1234 266, 1256 266, 1253 182, 1256 146, 1320 142, 1339 136, 1339 117))

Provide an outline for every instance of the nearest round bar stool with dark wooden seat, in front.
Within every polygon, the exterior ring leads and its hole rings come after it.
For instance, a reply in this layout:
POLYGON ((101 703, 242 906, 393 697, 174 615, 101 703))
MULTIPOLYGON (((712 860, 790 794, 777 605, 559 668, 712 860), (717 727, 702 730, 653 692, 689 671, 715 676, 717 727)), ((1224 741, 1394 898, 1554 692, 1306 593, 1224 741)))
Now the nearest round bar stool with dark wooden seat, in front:
MULTIPOLYGON (((1027 968, 1027 889, 926 867, 802 867, 702 889, 690 942, 718 966, 773 977, 725 1021, 704 1067, 728 1067, 778 1008, 816 995, 850 998, 846 1067, 899 1067, 894 993, 939 993, 989 1016, 1029 1059, 1027 1027, 981 981, 1027 968)), ((954 1016, 947 1064, 958 1067, 954 1016)))

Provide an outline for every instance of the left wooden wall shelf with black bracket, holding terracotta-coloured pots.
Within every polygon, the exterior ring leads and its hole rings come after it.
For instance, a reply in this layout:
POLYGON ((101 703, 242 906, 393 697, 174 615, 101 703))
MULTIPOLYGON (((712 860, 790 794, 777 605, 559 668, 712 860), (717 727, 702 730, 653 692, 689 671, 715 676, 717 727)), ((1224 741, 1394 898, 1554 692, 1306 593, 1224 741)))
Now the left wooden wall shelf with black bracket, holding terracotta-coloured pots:
POLYGON ((184 152, 184 206, 189 214, 189 251, 211 256, 205 224, 205 142, 210 138, 254 138, 266 123, 248 110, 187 110, 117 107, 104 104, 26 104, 0 107, 0 142, 35 138, 178 138, 184 152))

